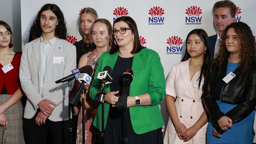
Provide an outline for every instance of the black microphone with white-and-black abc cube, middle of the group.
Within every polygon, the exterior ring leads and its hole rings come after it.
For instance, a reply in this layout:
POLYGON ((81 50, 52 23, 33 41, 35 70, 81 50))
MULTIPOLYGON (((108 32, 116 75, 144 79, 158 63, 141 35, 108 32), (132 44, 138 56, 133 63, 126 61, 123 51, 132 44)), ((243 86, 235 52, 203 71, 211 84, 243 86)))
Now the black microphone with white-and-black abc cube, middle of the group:
POLYGON ((103 72, 98 73, 98 79, 101 80, 100 92, 96 95, 95 102, 100 104, 103 101, 104 95, 106 92, 104 91, 104 87, 106 84, 112 83, 113 78, 111 76, 112 69, 110 66, 105 66, 103 68, 103 72))

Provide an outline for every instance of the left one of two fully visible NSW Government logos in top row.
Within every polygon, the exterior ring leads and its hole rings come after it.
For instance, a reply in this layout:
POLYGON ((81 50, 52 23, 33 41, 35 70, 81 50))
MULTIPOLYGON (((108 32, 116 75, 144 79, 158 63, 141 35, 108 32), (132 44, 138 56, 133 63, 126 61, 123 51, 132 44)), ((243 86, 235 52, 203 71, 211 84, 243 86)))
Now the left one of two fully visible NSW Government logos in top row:
POLYGON ((151 16, 148 17, 148 25, 164 25, 163 20, 165 19, 165 17, 162 16, 165 13, 163 11, 163 7, 151 7, 148 13, 151 16))

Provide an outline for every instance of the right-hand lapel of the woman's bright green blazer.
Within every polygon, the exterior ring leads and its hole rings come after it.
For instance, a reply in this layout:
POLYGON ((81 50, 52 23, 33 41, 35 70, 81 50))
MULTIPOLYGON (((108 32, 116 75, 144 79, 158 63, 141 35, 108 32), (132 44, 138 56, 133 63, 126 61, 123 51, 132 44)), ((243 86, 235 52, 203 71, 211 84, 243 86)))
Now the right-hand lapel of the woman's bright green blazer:
POLYGON ((140 52, 134 54, 134 59, 132 61, 132 71, 134 72, 134 80, 130 84, 130 95, 134 91, 134 87, 137 81, 137 76, 139 76, 139 72, 141 71, 141 66, 143 64, 143 59, 141 58, 142 55, 143 55, 143 49, 140 52))

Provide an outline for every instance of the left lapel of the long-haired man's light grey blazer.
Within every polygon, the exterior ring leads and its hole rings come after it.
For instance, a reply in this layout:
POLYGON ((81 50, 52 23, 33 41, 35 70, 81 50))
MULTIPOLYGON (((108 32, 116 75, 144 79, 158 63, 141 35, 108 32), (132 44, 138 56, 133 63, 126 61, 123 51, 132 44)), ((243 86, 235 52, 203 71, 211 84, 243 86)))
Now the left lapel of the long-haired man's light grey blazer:
POLYGON ((39 79, 40 79, 40 69, 41 69, 40 42, 41 41, 40 41, 40 37, 39 37, 33 43, 33 51, 34 51, 34 55, 35 55, 35 61, 37 63, 39 79))

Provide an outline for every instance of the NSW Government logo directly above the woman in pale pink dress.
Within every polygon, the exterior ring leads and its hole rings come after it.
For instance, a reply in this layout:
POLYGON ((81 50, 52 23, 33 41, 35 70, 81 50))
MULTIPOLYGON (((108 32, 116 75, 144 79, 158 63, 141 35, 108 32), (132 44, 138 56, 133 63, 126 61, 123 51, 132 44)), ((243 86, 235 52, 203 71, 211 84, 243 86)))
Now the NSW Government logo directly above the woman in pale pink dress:
POLYGON ((201 25, 202 17, 200 17, 200 14, 202 14, 202 9, 197 6, 190 6, 186 9, 186 14, 188 17, 186 17, 186 25, 201 25))

